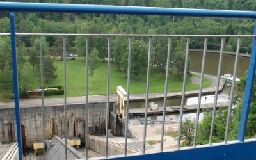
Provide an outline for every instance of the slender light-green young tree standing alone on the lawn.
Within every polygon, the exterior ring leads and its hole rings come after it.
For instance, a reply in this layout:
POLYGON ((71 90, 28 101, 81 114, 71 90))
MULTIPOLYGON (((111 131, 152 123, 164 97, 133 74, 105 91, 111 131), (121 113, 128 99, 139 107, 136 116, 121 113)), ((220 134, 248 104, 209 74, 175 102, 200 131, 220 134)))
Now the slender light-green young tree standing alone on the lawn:
POLYGON ((95 84, 94 83, 94 72, 95 72, 95 69, 99 66, 98 56, 99 56, 99 51, 97 51, 97 49, 93 49, 93 51, 89 55, 88 65, 89 65, 90 76, 92 76, 93 84, 95 84))

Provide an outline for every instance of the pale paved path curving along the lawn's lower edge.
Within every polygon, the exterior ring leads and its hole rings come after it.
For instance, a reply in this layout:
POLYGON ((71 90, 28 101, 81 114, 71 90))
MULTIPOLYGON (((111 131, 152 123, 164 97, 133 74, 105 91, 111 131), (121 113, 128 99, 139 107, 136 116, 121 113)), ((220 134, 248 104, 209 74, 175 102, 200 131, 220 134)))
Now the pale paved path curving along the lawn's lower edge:
MULTIPOLYGON (((196 72, 192 72, 193 74, 200 75, 196 72)), ((211 79, 212 85, 204 88, 202 93, 203 94, 214 94, 216 90, 216 84, 217 84, 217 77, 210 76, 207 74, 204 74, 205 77, 211 79)), ((220 87, 219 91, 223 89, 223 86, 225 84, 225 80, 221 79, 220 81, 220 87)), ((186 91, 186 96, 198 96, 199 90, 191 90, 186 91)), ((167 96, 170 97, 181 97, 182 92, 168 92, 167 96)), ((130 95, 131 101, 141 101, 145 100, 146 94, 133 94, 130 95)), ((164 93, 150 93, 149 99, 163 99, 164 93)), ((88 102, 95 103, 95 102, 106 102, 107 96, 106 95, 89 95, 88 102)), ((116 95, 109 95, 109 102, 115 102, 116 101, 116 95)), ((67 104, 85 104, 86 102, 86 96, 82 97, 67 97, 67 104)), ((29 108, 29 107, 40 107, 42 104, 41 99, 20 99, 20 108, 29 108)), ((54 99, 44 99, 44 105, 45 106, 63 106, 64 99, 63 98, 54 98, 54 99)), ((4 108, 14 108, 14 102, 0 102, 0 109, 4 108)))

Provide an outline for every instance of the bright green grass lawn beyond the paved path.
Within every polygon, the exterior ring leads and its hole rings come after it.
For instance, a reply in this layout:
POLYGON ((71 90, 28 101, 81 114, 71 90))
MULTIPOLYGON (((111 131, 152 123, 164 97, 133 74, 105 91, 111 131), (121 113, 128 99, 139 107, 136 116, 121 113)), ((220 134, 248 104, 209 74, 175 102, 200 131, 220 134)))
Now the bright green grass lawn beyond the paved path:
MULTIPOLYGON (((45 86, 63 85, 63 61, 55 61, 58 66, 58 78, 52 83, 45 84, 45 86)), ((85 61, 84 60, 69 60, 67 61, 67 97, 83 96, 85 95, 85 61)), ((165 74, 159 78, 158 72, 151 71, 150 75, 150 93, 164 92, 165 74)), ((195 76, 195 75, 193 75, 195 76)), ((144 81, 135 81, 131 79, 130 92, 131 93, 145 93, 146 92, 146 79, 147 71, 145 72, 144 81)), ((89 76, 89 95, 104 95, 107 92, 107 63, 100 63, 99 67, 95 70, 94 74, 95 84, 92 83, 92 77, 89 76)), ((211 81, 207 78, 204 79, 204 87, 210 86, 211 81)), ((192 84, 191 78, 186 83, 186 90, 195 90, 199 88, 198 84, 192 84)), ((40 80, 36 81, 35 87, 40 86, 40 80)), ((110 93, 116 93, 116 86, 123 86, 127 88, 127 76, 116 70, 111 64, 110 71, 110 93)), ((175 74, 170 73, 168 81, 168 92, 176 92, 182 90, 182 81, 179 81, 175 74)), ((61 96, 57 96, 61 97, 61 96)))

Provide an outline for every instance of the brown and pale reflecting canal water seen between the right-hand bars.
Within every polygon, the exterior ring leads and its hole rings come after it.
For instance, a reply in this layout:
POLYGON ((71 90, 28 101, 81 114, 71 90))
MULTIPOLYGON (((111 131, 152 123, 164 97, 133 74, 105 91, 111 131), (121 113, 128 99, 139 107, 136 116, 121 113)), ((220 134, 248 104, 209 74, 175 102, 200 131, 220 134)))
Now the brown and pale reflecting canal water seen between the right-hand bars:
MULTIPOLYGON (((205 74, 210 74, 213 76, 217 75, 218 72, 218 61, 219 61, 220 54, 214 54, 214 53, 207 53, 206 59, 205 59, 205 74)), ((191 60, 190 69, 194 72, 200 72, 201 71, 201 63, 198 63, 198 61, 202 61, 202 52, 189 52, 189 57, 191 60)), ((241 77, 245 74, 246 70, 248 70, 250 58, 246 57, 239 57, 238 65, 237 65, 237 72, 236 76, 241 77)), ((221 74, 233 74, 233 68, 234 68, 234 61, 235 56, 223 54, 223 60, 222 60, 222 66, 221 66, 221 74)), ((221 92, 218 95, 218 102, 228 102, 229 95, 230 95, 230 88, 231 84, 226 83, 225 87, 223 89, 223 92, 221 92)), ((163 99, 161 100, 150 100, 150 102, 155 102, 160 107, 163 106, 163 99)), ((206 95, 202 96, 201 104, 207 104, 207 103, 213 103, 214 102, 214 95, 206 95)), ((181 98, 175 98, 175 99, 168 99, 166 102, 166 106, 180 106, 181 98)), ((198 97, 187 97, 185 99, 185 104, 197 104, 198 103, 198 97)), ((145 101, 143 102, 130 102, 130 108, 145 108, 145 101)), ((190 118, 191 120, 195 119, 196 113, 184 113, 184 118, 190 118)), ((142 117, 141 117, 142 118, 142 117)), ((200 113, 200 120, 202 120, 203 114, 200 113)), ((153 115, 148 116, 148 120, 162 120, 161 115, 153 115)), ((166 122, 179 122, 179 114, 167 114, 166 115, 166 122)))

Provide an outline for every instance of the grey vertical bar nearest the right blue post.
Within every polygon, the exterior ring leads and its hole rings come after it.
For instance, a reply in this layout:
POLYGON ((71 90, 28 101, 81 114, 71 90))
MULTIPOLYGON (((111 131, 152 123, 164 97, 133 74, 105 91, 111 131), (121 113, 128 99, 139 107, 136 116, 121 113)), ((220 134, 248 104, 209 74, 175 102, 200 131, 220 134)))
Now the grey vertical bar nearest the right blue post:
POLYGON ((228 115, 227 115, 227 124, 226 124, 224 143, 227 143, 227 138, 228 138, 228 126, 230 123, 230 113, 231 113, 231 109, 232 109, 234 86, 236 83, 236 70, 237 70, 237 63, 238 63, 238 58, 239 58, 240 45, 241 45, 241 38, 238 38, 237 39, 237 48, 236 48, 236 59, 235 59, 234 70, 233 70, 233 81, 232 81, 232 86, 231 86, 230 100, 229 100, 229 104, 228 104, 228 115))

